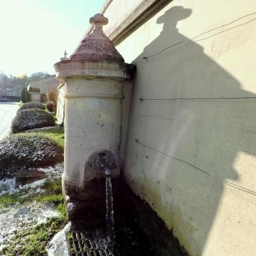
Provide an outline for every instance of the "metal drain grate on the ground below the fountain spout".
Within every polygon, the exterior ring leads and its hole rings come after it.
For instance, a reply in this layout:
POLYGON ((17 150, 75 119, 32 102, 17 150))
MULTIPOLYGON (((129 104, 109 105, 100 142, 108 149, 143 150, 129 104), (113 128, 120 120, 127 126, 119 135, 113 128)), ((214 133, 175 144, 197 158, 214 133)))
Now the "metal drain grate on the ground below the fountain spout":
POLYGON ((88 238, 83 232, 67 232, 66 241, 69 256, 117 256, 118 253, 109 252, 102 244, 88 238))

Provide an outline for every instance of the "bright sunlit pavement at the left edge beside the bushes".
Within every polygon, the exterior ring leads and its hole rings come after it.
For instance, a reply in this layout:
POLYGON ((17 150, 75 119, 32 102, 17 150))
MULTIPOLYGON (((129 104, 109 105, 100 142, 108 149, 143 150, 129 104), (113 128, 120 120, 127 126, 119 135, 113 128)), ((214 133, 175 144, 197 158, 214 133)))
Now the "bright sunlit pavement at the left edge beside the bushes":
POLYGON ((0 140, 11 131, 12 120, 19 109, 19 103, 0 102, 0 140))

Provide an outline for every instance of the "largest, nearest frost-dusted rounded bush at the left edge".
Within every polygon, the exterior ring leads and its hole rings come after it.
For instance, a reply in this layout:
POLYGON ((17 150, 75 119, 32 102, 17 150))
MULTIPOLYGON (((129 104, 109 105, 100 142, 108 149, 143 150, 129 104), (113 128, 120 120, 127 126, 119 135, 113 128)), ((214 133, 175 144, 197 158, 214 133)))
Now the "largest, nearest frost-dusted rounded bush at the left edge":
POLYGON ((38 134, 13 134, 0 141, 0 179, 13 177, 18 170, 49 166, 63 161, 63 149, 38 134))

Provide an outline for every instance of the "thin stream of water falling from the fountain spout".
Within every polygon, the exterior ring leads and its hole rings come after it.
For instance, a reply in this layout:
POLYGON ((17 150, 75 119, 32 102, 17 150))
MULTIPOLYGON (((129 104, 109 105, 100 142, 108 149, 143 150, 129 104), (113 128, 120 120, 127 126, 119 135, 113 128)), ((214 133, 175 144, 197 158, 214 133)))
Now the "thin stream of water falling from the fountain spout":
POLYGON ((110 171, 105 170, 106 174, 106 222, 109 241, 114 243, 115 240, 115 226, 114 226, 114 208, 113 208, 113 194, 110 171))

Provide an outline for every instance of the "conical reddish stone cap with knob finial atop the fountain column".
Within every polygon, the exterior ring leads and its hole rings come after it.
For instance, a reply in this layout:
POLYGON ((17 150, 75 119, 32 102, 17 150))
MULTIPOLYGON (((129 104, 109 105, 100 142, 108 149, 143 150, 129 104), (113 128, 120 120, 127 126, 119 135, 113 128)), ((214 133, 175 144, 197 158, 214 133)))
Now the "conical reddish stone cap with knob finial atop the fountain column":
POLYGON ((70 60, 106 60, 124 63, 124 58, 102 31, 102 26, 108 24, 108 19, 97 13, 90 18, 90 24, 94 26, 92 33, 84 38, 74 54, 70 56, 70 60))

